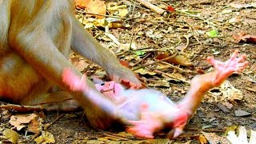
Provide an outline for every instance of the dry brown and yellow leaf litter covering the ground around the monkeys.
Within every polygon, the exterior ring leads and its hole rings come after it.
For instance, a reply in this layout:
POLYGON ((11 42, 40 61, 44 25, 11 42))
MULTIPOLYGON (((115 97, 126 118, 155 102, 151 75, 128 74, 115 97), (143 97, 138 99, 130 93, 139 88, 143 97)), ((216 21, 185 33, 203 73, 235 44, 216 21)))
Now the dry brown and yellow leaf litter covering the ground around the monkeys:
MULTIPOLYGON (((210 70, 205 61, 208 56, 224 61, 238 49, 247 54, 250 66, 243 74, 234 74, 222 86, 210 90, 185 133, 176 140, 164 138, 165 134, 154 140, 142 140, 120 133, 121 128, 95 130, 81 111, 73 112, 73 117, 47 112, 46 118, 38 121, 34 114, 21 117, 6 110, 0 110, 0 140, 13 143, 28 142, 25 138, 38 143, 229 143, 225 132, 230 126, 256 123, 254 1, 149 1, 162 9, 162 14, 140 2, 77 0, 76 13, 94 38, 128 63, 147 86, 178 101, 195 74, 210 70), (168 57, 172 55, 174 59, 180 58, 171 60, 168 57), (36 128, 29 130, 30 125, 36 128)), ((106 73, 99 66, 77 54, 72 54, 70 60, 87 75, 106 79, 106 73)), ((255 130, 255 126, 250 126, 255 130)), ((232 133, 235 139, 236 133, 232 133)), ((254 134, 250 138, 254 138, 254 134)))

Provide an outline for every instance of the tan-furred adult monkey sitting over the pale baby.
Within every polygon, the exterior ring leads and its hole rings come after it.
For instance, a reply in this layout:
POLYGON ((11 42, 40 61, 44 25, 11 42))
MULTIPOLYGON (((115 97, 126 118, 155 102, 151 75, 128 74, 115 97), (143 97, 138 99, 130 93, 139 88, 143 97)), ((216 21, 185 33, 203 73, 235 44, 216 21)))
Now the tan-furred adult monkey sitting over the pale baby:
MULTIPOLYGON (((0 14, 0 98, 47 110, 72 110, 78 102, 87 116, 107 122, 109 114, 104 109, 62 82, 66 67, 82 78, 67 60, 70 48, 102 66, 115 81, 141 86, 132 71, 83 30, 74 17, 73 0, 0 0, 0 14), (76 102, 66 101, 70 98, 76 102)), ((105 127, 103 123, 92 125, 105 127)))

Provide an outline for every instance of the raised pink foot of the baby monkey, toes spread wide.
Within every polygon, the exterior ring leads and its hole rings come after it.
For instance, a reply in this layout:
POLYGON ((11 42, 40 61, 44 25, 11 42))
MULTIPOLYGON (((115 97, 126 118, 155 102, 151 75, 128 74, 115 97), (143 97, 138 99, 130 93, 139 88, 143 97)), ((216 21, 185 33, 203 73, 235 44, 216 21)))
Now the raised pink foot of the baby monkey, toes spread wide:
POLYGON ((220 62, 212 57, 207 58, 207 62, 214 66, 216 74, 214 76, 214 86, 219 86, 234 72, 241 72, 246 68, 248 62, 246 62, 246 54, 238 57, 238 50, 235 50, 231 58, 226 62, 220 62))

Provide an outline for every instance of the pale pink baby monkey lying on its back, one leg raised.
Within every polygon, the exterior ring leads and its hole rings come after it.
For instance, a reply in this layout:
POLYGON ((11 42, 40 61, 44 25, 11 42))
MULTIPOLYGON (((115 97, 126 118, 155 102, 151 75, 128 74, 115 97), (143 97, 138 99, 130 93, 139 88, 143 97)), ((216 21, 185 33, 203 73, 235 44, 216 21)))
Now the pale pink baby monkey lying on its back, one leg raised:
MULTIPOLYGON (((234 51, 231 58, 226 62, 207 58, 207 62, 215 68, 213 72, 195 76, 191 81, 190 90, 177 104, 159 94, 157 90, 125 90, 122 85, 115 82, 106 82, 105 85, 96 86, 114 103, 118 103, 119 97, 125 98, 125 101, 117 104, 119 110, 118 118, 128 124, 127 131, 139 138, 154 138, 154 134, 163 128, 170 128, 168 138, 177 138, 182 134, 182 130, 190 117, 198 109, 203 95, 213 88, 219 86, 234 72, 241 72, 246 68, 248 62, 245 62, 246 55, 238 57, 238 50, 234 51), (105 91, 106 92, 106 91, 105 91), (138 104, 138 105, 137 105, 138 104), (128 113, 138 114, 138 117, 130 116, 128 113)), ((70 86, 70 90, 87 91, 89 87, 86 82, 75 78, 72 72, 64 71, 63 81, 70 86), (71 79, 65 81, 65 78, 71 79)))

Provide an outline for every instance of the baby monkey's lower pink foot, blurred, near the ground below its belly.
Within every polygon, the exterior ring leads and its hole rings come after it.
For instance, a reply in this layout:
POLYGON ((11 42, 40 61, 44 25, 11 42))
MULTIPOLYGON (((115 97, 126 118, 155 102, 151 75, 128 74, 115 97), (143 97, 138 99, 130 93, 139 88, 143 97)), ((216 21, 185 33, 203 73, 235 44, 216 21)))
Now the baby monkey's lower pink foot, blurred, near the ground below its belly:
POLYGON ((154 138, 154 132, 162 129, 161 119, 148 110, 147 104, 142 105, 141 114, 139 121, 129 121, 133 126, 128 127, 127 132, 139 138, 154 138))

